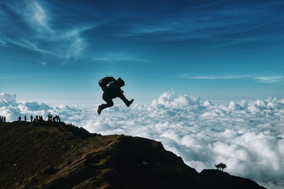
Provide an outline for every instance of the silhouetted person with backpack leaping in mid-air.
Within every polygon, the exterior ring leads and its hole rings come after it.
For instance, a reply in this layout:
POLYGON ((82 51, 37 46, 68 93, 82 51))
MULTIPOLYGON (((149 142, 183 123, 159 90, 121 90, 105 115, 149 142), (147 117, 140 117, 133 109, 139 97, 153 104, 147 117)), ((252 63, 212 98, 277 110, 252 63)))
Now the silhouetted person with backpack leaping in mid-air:
MULTIPOLYGON (((124 104, 126 104, 127 107, 129 107, 134 99, 131 99, 130 101, 126 99, 126 97, 123 94, 123 90, 121 90, 120 87, 124 86, 124 80, 119 77, 117 80, 113 80, 111 82, 104 82, 104 80, 107 77, 104 77, 102 80, 99 80, 99 86, 102 87, 102 90, 104 91, 104 94, 102 95, 102 99, 104 99, 107 104, 101 104, 99 105, 97 109, 97 113, 101 114, 102 110, 107 107, 112 107, 114 105, 114 102, 112 99, 119 97, 124 101, 124 104), (102 85, 103 84, 103 85, 102 85)), ((112 77, 114 78, 114 77, 112 77)))

